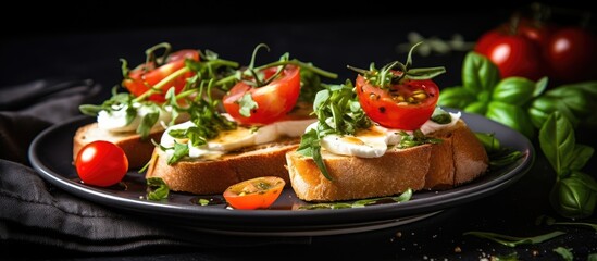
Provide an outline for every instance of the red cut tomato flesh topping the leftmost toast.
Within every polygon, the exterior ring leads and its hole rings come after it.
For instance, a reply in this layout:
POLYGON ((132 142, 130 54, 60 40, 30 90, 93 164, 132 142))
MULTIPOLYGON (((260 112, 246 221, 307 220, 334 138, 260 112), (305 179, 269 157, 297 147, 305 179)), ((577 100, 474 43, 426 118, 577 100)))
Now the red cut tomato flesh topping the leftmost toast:
MULTIPOLYGON (((166 76, 185 66, 185 60, 191 59, 199 61, 199 52, 197 50, 184 49, 171 53, 166 63, 156 67, 153 63, 140 64, 128 73, 128 78, 123 80, 123 86, 134 96, 140 96, 148 91, 153 85, 160 83, 166 76)), ((192 72, 187 72, 179 77, 174 78, 170 84, 162 87, 162 94, 153 94, 149 100, 163 102, 165 101, 165 92, 174 86, 178 94, 186 84, 186 79, 194 75, 192 72)))

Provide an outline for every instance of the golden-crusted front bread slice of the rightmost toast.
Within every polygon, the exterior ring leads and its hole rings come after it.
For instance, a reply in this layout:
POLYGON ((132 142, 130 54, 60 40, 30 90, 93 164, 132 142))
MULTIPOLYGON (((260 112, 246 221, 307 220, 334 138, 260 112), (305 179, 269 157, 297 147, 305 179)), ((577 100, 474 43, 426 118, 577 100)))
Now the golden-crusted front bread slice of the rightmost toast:
POLYGON ((322 157, 332 181, 323 176, 311 157, 291 151, 286 160, 298 198, 325 202, 391 196, 408 188, 420 190, 425 185, 431 151, 431 145, 422 145, 391 149, 380 158, 359 158, 324 150, 322 157))

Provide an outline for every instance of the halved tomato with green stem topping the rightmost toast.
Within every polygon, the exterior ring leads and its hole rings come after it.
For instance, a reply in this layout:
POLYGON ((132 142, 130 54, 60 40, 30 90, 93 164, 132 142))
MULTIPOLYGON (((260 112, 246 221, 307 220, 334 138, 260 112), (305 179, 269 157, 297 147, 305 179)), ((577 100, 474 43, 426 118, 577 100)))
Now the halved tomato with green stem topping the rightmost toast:
MULTIPOLYGON (((420 45, 420 44, 418 44, 420 45)), ((411 69, 412 50, 407 63, 398 61, 369 71, 359 72, 357 97, 365 114, 388 128, 414 130, 433 114, 439 98, 439 87, 431 79, 446 72, 445 67, 411 69)))

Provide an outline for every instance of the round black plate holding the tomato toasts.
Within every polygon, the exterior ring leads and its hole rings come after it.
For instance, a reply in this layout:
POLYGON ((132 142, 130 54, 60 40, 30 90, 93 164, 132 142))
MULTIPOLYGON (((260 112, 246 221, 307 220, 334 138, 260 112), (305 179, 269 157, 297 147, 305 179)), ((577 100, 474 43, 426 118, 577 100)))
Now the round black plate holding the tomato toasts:
POLYGON ((225 202, 220 195, 198 197, 171 192, 167 200, 145 199, 144 174, 129 171, 123 182, 100 188, 79 182, 72 164, 73 136, 76 129, 95 119, 80 116, 54 125, 39 134, 29 147, 29 159, 41 177, 52 185, 87 200, 116 208, 145 219, 165 219, 181 226, 224 234, 250 235, 328 235, 378 229, 415 222, 440 212, 495 194, 521 178, 533 165, 535 151, 520 133, 476 114, 463 113, 471 129, 495 133, 502 146, 524 153, 518 162, 490 170, 470 184, 444 191, 419 191, 401 203, 380 203, 364 208, 297 210, 308 203, 285 189, 268 210, 233 210, 225 203, 200 206, 199 198, 225 202))

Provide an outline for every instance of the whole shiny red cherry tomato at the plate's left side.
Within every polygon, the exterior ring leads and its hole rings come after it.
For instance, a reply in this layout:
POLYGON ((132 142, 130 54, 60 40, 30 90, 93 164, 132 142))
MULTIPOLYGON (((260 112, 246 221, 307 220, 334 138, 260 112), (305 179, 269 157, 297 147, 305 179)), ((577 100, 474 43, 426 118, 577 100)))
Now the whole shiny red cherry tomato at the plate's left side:
POLYGON ((75 160, 83 183, 108 187, 117 184, 128 171, 128 159, 121 147, 104 140, 84 146, 75 160))

